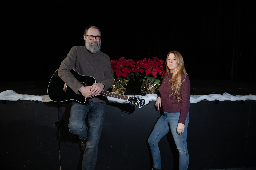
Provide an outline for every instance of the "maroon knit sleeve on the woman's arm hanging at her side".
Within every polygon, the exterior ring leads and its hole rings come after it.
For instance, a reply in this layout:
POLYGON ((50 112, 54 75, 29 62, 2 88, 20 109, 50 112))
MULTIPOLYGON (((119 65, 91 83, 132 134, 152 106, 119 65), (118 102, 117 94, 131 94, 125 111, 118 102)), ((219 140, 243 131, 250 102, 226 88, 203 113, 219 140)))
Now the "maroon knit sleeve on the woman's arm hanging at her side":
POLYGON ((185 124, 187 113, 189 112, 190 106, 190 81, 189 78, 186 76, 185 82, 181 84, 181 97, 182 97, 182 104, 181 104, 181 114, 179 116, 179 123, 185 124))

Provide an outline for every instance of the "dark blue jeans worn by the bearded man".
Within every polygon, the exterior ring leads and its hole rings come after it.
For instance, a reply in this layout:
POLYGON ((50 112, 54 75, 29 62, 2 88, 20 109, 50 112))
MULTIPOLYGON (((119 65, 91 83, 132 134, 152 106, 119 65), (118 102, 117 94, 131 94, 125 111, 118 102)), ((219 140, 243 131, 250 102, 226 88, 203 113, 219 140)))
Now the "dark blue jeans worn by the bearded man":
POLYGON ((105 117, 106 103, 90 101, 88 105, 71 103, 69 131, 85 140, 86 148, 83 154, 82 169, 94 170, 97 160, 98 143, 105 117), (88 112, 88 127, 85 117, 88 112))

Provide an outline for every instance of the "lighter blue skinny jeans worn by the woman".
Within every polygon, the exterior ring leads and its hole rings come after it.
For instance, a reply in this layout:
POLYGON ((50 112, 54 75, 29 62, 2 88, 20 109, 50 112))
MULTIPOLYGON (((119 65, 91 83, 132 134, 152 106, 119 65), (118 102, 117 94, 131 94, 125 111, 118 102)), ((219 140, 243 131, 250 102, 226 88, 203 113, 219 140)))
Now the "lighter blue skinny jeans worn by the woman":
POLYGON ((164 114, 165 116, 161 115, 161 117, 158 119, 148 139, 151 154, 153 157, 154 167, 157 169, 161 169, 161 158, 160 150, 158 148, 158 142, 164 135, 168 133, 169 124, 173 139, 179 151, 179 170, 187 170, 187 167, 189 165, 189 153, 187 151, 187 125, 189 124, 189 113, 187 113, 185 129, 181 135, 177 133, 177 125, 180 113, 164 112, 164 114))

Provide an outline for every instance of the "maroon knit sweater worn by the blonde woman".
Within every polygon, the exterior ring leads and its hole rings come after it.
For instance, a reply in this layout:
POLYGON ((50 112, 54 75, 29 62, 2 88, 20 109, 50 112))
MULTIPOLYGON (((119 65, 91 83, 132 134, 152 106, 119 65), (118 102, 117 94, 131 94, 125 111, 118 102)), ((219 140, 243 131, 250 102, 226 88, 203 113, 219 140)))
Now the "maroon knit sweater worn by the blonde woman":
MULTIPOLYGON (((181 98, 182 102, 179 102, 176 98, 173 99, 172 96, 169 95, 171 94, 172 90, 170 88, 170 83, 169 80, 173 76, 172 73, 170 73, 163 81, 161 84, 159 91, 161 94, 161 109, 163 112, 170 112, 170 113, 176 113, 180 112, 179 116, 179 123, 185 124, 186 118, 187 118, 187 113, 189 112, 189 98, 190 98, 190 81, 189 78, 186 76, 185 82, 181 84, 181 98)), ((183 81, 185 78, 185 75, 182 76, 181 81, 183 81)))

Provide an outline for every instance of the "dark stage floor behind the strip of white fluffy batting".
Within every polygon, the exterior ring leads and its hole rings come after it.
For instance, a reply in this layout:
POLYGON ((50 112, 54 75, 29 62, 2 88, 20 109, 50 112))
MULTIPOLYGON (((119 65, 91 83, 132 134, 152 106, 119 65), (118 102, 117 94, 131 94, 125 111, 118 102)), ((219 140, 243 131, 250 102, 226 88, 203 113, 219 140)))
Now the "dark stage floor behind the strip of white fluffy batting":
MULTIPOLYGON (((223 80, 198 80, 191 79, 190 95, 208 95, 223 94, 224 92, 231 95, 256 95, 256 84, 238 83, 235 81, 223 80)), ((47 95, 48 80, 40 81, 18 81, 18 82, 1 82, 0 92, 13 90, 19 94, 28 95, 47 95)), ((109 89, 110 91, 111 89, 109 89)), ((141 82, 129 82, 125 95, 141 95, 141 82)))

